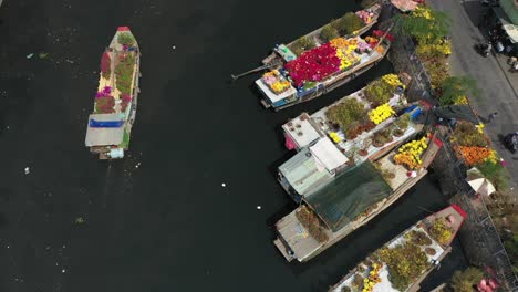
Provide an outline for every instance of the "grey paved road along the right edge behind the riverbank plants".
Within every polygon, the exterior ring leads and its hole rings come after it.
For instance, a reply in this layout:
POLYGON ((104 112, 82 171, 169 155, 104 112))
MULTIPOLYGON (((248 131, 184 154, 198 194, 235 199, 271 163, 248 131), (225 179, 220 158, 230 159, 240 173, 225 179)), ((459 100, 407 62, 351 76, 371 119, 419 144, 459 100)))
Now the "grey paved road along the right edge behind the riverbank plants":
POLYGON ((487 134, 495 149, 508 163, 511 176, 518 177, 518 155, 505 149, 499 139, 500 135, 518 131, 518 74, 508 72, 504 56, 483 58, 474 50, 474 45, 483 39, 477 28, 481 11, 478 1, 429 0, 428 4, 452 17, 450 71, 455 75, 472 75, 477 80, 480 94, 472 96, 470 101, 483 118, 498 112, 497 118, 486 125, 487 134))

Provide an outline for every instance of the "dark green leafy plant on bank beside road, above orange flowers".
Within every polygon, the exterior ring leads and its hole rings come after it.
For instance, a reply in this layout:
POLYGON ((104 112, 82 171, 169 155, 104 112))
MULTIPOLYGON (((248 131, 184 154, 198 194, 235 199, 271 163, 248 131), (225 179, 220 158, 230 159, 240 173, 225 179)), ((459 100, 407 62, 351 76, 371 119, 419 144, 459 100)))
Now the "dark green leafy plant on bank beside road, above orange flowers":
POLYGON ((439 101, 443 105, 457 104, 459 97, 477 96, 477 82, 469 76, 449 76, 441 83, 439 101))

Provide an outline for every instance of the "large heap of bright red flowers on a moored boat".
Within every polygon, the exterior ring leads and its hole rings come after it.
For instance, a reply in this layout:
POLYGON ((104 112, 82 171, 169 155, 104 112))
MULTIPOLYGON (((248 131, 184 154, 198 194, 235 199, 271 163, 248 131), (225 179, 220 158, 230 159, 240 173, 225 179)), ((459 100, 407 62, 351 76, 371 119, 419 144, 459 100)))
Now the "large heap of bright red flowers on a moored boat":
POLYGON ((297 87, 305 81, 321 81, 340 71, 341 60, 336 48, 330 43, 303 52, 298 59, 286 64, 297 87))

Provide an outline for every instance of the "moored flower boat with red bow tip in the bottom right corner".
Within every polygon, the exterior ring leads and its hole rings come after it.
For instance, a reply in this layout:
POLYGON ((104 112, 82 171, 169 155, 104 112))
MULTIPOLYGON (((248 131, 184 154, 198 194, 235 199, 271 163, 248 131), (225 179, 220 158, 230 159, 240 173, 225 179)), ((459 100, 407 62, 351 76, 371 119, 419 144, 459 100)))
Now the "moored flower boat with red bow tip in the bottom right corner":
POLYGON ((351 270, 330 292, 415 292, 450 252, 466 212, 452 205, 403 231, 351 270), (410 269, 402 271, 403 265, 410 269))

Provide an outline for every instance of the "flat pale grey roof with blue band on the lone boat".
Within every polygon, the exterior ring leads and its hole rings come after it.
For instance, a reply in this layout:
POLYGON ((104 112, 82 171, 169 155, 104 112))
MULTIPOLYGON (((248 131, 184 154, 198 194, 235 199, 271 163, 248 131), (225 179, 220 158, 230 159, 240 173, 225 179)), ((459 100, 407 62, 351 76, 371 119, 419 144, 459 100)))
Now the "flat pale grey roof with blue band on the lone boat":
POLYGON ((86 131, 86 138, 84 144, 86 147, 92 146, 110 146, 118 145, 123 142, 124 125, 116 128, 108 127, 91 127, 90 121, 95 119, 99 122, 121 121, 121 114, 93 114, 89 117, 89 128, 86 131))

